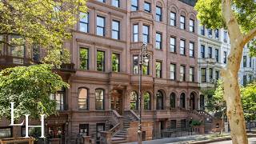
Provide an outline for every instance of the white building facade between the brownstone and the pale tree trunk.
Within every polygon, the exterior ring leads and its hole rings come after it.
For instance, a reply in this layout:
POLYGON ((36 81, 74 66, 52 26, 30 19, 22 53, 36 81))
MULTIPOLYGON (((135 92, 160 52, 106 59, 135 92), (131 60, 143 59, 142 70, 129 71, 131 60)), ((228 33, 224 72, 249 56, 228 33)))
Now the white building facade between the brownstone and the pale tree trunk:
POLYGON ((226 66, 230 54, 230 40, 223 29, 206 29, 198 25, 198 82, 200 83, 200 109, 214 94, 220 70, 226 66))

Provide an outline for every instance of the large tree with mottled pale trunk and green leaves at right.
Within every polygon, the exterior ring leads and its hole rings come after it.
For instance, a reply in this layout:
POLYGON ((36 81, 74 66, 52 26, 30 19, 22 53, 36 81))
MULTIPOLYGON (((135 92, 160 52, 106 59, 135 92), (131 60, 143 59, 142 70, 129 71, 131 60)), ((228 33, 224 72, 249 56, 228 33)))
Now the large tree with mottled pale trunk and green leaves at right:
POLYGON ((256 36, 256 2, 254 0, 198 0, 195 9, 202 25, 228 30, 230 54, 221 71, 224 99, 234 144, 247 144, 245 119, 238 84, 242 50, 256 36))

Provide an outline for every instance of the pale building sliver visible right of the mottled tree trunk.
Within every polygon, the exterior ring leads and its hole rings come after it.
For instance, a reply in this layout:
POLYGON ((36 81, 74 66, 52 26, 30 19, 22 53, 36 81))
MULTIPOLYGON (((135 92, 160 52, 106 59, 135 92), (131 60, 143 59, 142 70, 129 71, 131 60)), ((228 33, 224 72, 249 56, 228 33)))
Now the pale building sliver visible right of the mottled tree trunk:
POLYGON ((246 86, 246 84, 254 81, 256 78, 256 57, 250 57, 248 46, 250 46, 250 43, 244 46, 238 73, 239 82, 242 86, 246 86))

